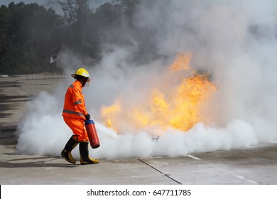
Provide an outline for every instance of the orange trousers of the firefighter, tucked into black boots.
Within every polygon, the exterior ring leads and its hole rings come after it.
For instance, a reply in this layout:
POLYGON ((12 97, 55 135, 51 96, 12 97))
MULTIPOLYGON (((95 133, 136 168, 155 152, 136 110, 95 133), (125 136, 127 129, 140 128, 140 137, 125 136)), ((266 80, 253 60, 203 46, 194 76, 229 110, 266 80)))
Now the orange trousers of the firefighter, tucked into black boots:
POLYGON ((85 124, 82 119, 63 117, 65 123, 73 131, 78 141, 88 141, 87 130, 85 129, 85 124))

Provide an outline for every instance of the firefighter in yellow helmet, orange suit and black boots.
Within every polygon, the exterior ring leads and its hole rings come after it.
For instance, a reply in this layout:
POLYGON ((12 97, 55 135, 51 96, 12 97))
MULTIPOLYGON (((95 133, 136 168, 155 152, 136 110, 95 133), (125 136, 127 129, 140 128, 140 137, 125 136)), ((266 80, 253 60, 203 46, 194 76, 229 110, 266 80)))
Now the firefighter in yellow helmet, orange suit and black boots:
POLYGON ((99 163, 98 159, 92 159, 89 157, 89 138, 84 124, 86 120, 90 119, 90 115, 87 113, 85 107, 85 98, 82 93, 82 87, 85 87, 86 83, 90 81, 89 72, 84 68, 79 68, 71 76, 76 80, 68 87, 65 94, 63 119, 67 126, 72 129, 73 135, 67 141, 67 144, 65 144, 65 149, 63 149, 61 155, 66 161, 76 163, 76 159, 72 157, 71 151, 77 146, 77 144, 80 144, 80 163, 99 163))

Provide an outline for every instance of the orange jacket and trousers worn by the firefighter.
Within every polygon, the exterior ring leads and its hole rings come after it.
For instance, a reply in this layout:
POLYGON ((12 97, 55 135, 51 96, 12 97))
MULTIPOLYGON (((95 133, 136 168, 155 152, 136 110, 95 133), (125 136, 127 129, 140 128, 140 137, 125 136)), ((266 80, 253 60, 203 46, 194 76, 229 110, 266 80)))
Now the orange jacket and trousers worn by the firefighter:
POLYGON ((68 87, 65 93, 65 104, 63 106, 63 119, 78 141, 88 141, 87 130, 85 129, 85 97, 82 94, 82 84, 75 81, 68 87))

